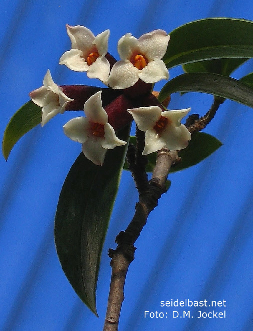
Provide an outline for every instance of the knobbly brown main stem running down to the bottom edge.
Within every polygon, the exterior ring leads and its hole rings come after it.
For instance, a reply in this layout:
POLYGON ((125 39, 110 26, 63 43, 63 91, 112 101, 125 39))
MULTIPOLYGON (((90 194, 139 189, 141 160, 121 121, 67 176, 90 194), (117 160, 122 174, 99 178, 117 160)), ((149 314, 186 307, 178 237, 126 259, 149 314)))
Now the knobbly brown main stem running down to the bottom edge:
POLYGON ((139 237, 147 222, 149 213, 157 206, 158 199, 166 192, 165 182, 170 167, 178 162, 176 151, 162 149, 157 153, 157 162, 148 190, 139 195, 135 214, 125 231, 117 237, 116 250, 109 250, 111 259, 112 277, 104 331, 117 331, 122 302, 124 300, 124 284, 130 263, 134 260, 134 243, 139 237))

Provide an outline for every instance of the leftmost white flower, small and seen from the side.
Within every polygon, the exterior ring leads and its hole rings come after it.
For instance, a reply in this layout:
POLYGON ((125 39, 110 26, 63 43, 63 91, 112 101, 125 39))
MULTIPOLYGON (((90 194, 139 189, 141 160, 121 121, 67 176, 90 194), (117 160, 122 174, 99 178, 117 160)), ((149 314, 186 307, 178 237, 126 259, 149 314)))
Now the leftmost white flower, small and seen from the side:
POLYGON ((67 97, 61 88, 54 83, 50 70, 47 70, 43 86, 30 92, 29 95, 36 105, 42 107, 42 127, 56 114, 63 114, 66 105, 74 100, 67 97))

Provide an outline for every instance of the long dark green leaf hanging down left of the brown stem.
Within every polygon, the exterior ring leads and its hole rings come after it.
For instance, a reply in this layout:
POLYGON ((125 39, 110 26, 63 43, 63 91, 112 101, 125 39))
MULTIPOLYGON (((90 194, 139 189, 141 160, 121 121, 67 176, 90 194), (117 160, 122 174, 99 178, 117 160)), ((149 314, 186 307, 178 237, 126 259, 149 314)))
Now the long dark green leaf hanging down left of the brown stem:
MULTIPOLYGON (((128 140, 129 130, 128 125, 117 136, 128 140)), ((81 153, 66 177, 55 216, 55 244, 62 269, 95 315, 100 258, 126 149, 124 145, 108 150, 102 166, 81 153)))

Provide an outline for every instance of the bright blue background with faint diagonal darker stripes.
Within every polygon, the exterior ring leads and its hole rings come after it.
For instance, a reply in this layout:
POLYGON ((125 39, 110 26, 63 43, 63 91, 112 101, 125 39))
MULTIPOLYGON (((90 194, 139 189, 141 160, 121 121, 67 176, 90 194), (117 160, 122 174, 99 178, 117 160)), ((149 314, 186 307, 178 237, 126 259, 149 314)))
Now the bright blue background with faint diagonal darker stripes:
MULTIPOLYGON (((0 134, 29 100, 28 93, 42 85, 48 68, 58 85, 102 86, 58 64, 70 49, 66 23, 84 25, 95 35, 110 29, 109 52, 118 58, 117 41, 128 32, 136 37, 158 28, 169 33, 196 19, 252 19, 252 14, 252 0, 2 0, 0 134)), ((250 71, 252 61, 233 77, 250 71)), ((181 72, 172 69, 170 77, 181 72)), ((211 103, 209 95, 173 94, 170 109, 192 107, 203 115, 211 103)), ((107 251, 131 220, 138 196, 124 172, 102 255, 97 319, 65 278, 54 247, 58 196, 81 149, 63 134, 70 113, 31 130, 7 163, 0 158, 1 331, 102 330, 111 273, 107 251)), ((252 114, 249 107, 226 101, 205 129, 224 145, 201 164, 169 176, 171 189, 136 242, 120 331, 252 330, 252 114), (171 299, 226 300, 226 307, 217 309, 226 310, 226 319, 173 319, 170 307, 160 307, 160 301, 171 299), (145 310, 167 312, 167 318, 145 319, 145 310)), ((185 310, 196 315, 199 308, 185 310)))

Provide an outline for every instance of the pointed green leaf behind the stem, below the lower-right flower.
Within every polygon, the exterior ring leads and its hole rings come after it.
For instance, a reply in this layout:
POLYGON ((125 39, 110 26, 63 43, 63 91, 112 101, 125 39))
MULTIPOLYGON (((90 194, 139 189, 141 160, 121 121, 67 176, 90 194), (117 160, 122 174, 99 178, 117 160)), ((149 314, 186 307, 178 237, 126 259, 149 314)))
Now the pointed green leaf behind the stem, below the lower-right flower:
MULTIPOLYGON (((131 142, 134 145, 136 144, 136 138, 134 136, 131 136, 131 142)), ((197 132, 193 134, 188 146, 178 152, 178 155, 182 158, 181 162, 172 167, 170 173, 196 165, 214 153, 220 146, 222 146, 222 143, 207 133, 197 132)), ((146 171, 153 172, 156 165, 156 153, 148 154, 147 157, 148 164, 146 165, 146 171)), ((125 163, 124 169, 128 170, 127 163, 125 163)))

